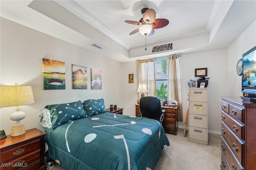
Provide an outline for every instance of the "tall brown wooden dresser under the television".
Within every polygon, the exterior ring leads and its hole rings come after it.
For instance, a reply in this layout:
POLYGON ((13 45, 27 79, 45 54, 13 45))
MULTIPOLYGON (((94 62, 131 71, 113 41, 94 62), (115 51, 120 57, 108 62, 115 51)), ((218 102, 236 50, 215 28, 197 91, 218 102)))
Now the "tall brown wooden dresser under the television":
POLYGON ((221 169, 256 169, 256 103, 221 97, 221 169))

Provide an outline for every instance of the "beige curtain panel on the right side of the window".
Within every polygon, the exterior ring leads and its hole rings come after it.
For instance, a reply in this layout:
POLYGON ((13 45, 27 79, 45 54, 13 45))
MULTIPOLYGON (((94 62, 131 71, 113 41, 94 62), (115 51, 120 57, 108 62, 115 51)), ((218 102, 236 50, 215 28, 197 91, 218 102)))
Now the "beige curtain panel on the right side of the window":
POLYGON ((182 121, 179 57, 178 54, 168 57, 168 100, 179 102, 177 121, 182 121))

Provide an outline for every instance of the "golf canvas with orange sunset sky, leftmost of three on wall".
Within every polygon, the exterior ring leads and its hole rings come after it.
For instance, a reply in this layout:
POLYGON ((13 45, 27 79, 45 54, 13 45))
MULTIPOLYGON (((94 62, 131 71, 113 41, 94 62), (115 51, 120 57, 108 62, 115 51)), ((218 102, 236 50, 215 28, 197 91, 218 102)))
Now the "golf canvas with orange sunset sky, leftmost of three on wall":
POLYGON ((65 62, 43 58, 44 90, 66 89, 65 62))

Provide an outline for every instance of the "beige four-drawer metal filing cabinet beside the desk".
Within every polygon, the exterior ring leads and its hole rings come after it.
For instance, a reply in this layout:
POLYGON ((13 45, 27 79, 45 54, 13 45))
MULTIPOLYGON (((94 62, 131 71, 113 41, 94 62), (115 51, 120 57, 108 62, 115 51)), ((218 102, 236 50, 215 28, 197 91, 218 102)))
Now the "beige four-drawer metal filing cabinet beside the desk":
POLYGON ((188 140, 208 145, 208 89, 189 89, 188 140))

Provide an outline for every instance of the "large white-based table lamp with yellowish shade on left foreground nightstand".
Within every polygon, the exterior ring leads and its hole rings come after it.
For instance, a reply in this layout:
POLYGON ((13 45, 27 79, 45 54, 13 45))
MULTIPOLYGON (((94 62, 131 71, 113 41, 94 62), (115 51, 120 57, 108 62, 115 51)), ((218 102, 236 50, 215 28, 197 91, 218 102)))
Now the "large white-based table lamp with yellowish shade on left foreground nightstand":
POLYGON ((20 111, 21 105, 35 103, 31 86, 2 86, 0 87, 0 107, 16 106, 16 112, 10 115, 12 121, 16 121, 12 125, 11 136, 19 136, 25 133, 25 125, 20 122, 26 117, 26 114, 20 111))

